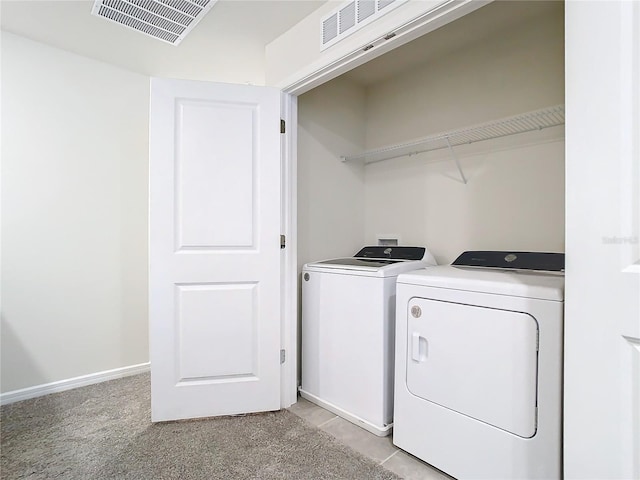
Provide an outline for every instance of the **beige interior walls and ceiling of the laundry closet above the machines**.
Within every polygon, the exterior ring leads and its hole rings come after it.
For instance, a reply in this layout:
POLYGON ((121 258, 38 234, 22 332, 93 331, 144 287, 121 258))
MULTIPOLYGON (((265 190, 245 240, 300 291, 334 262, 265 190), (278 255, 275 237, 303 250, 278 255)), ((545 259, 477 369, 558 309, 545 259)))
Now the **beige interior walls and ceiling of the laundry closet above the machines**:
POLYGON ((396 148, 547 107, 562 117, 563 104, 556 1, 492 2, 301 95, 299 266, 380 238, 426 245, 445 264, 465 250, 563 252, 562 120, 452 148, 396 148), (387 147, 399 156, 349 158, 387 147))

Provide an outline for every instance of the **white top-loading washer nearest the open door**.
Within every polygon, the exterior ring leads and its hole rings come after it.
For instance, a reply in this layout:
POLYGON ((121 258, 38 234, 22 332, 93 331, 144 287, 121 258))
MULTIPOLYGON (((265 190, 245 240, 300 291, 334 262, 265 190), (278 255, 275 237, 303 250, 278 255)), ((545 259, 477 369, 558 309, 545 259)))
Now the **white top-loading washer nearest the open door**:
POLYGON ((302 397, 390 433, 396 278, 428 265, 435 260, 424 247, 364 247, 304 266, 302 397))

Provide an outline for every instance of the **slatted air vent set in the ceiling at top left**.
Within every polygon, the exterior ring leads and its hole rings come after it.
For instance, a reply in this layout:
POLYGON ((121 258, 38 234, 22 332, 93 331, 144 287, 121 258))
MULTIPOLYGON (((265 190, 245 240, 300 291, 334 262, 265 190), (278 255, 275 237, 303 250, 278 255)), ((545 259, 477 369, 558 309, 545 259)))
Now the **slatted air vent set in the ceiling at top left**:
POLYGON ((91 13, 178 45, 217 0, 95 0, 91 13))

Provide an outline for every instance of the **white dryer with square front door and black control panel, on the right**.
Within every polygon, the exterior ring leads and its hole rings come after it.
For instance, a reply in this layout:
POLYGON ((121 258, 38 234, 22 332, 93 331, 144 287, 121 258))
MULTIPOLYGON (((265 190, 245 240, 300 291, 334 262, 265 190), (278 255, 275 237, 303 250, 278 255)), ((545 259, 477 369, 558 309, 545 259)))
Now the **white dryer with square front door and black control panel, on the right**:
POLYGON ((561 478, 563 270, 465 252, 398 277, 395 445, 458 479, 561 478))

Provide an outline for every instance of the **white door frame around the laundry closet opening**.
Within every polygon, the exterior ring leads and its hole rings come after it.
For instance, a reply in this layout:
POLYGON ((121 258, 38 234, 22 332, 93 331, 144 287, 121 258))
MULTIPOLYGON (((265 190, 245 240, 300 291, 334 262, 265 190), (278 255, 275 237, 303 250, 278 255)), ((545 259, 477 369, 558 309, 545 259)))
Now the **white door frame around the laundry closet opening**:
MULTIPOLYGON (((282 256, 282 349, 286 360, 281 371, 281 407, 296 403, 298 395, 298 254, 297 254, 297 140, 298 140, 298 96, 322 85, 349 70, 352 70, 395 48, 415 40, 422 35, 451 23, 493 0, 450 0, 414 19, 398 25, 384 36, 377 37, 365 45, 356 45, 347 55, 338 60, 327 60, 313 73, 298 72, 284 84, 282 90, 281 115, 286 123, 282 139, 282 234, 286 236, 286 248, 282 256), (391 34, 395 35, 391 35, 391 34)), ((348 40, 348 39, 347 39, 348 40)))

